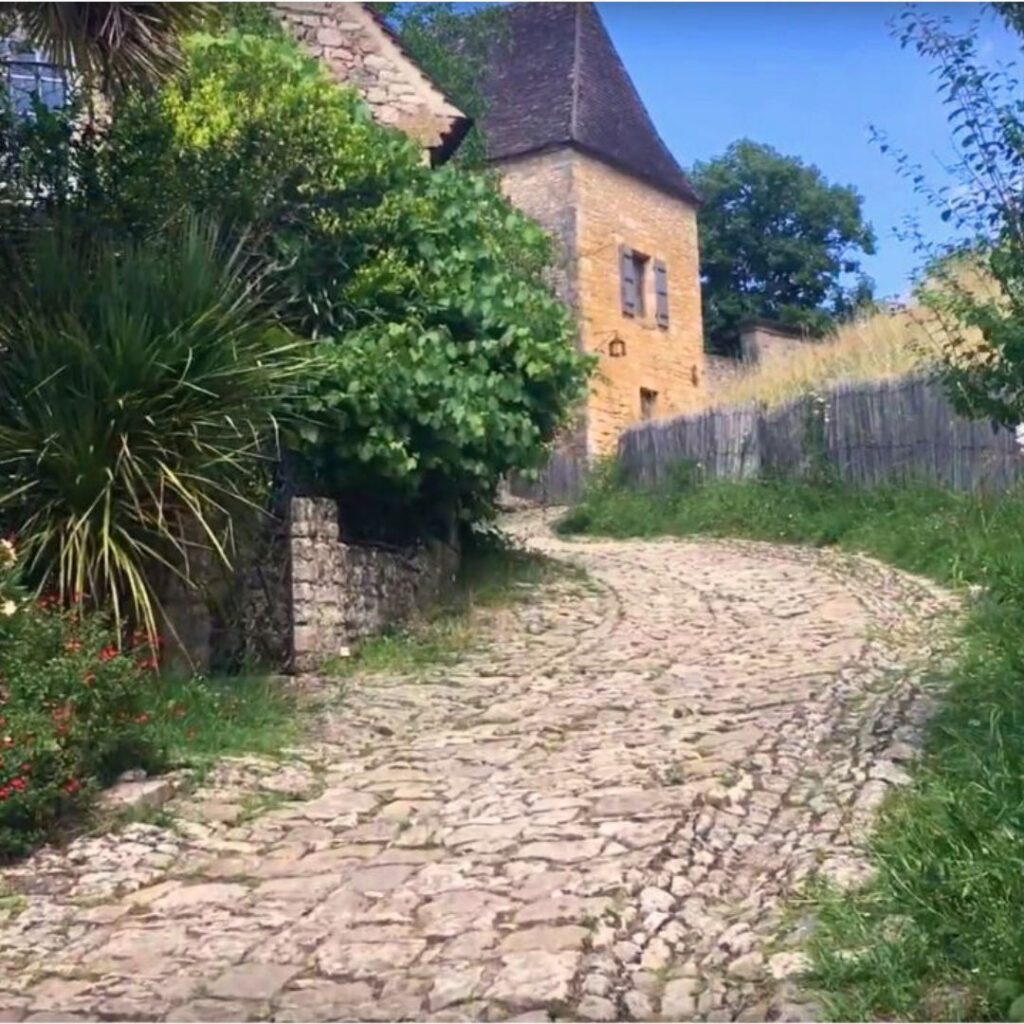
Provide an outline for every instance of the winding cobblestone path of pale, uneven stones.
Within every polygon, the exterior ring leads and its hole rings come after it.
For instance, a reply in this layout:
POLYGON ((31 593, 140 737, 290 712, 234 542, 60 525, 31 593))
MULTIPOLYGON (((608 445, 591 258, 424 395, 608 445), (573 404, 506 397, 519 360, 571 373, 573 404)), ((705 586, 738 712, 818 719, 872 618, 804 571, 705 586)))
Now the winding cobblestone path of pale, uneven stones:
POLYGON ((358 679, 322 738, 223 763, 176 827, 4 871, 0 1020, 806 1019, 781 897, 862 871, 951 601, 752 544, 578 563, 486 645, 358 679))

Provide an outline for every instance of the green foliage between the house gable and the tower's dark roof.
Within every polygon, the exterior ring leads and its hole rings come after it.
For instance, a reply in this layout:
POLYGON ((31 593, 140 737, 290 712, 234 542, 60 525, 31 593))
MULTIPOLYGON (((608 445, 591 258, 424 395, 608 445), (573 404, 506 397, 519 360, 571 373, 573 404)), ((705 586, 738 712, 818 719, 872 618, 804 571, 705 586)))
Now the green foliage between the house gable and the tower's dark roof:
POLYGON ((481 167, 486 156, 481 127, 486 99, 480 82, 494 48, 506 38, 508 12, 501 4, 461 10, 447 3, 375 6, 394 26, 410 56, 472 118, 473 127, 454 159, 463 167, 481 167))

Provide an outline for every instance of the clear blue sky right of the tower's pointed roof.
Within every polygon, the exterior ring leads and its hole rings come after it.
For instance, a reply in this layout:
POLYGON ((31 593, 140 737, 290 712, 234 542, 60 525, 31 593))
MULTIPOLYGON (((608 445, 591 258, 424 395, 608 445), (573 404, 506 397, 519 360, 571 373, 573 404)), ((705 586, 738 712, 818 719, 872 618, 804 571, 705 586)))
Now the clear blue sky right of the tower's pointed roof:
MULTIPOLYGON (((881 296, 900 295, 918 265, 894 238, 906 215, 926 238, 947 229, 913 195, 869 126, 921 163, 936 183, 951 151, 929 65, 901 50, 896 3, 601 3, 605 26, 654 123, 684 167, 737 138, 816 164, 864 198, 878 253, 864 268, 881 296)), ((929 4, 966 27, 981 17, 983 51, 1014 59, 1019 40, 977 4, 929 4)))

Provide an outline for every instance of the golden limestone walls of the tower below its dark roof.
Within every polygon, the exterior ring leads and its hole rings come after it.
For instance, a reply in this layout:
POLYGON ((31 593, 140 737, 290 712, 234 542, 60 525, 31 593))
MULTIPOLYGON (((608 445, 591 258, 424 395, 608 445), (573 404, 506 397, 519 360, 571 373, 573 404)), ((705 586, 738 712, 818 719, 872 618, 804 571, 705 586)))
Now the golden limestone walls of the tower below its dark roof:
POLYGON ((705 356, 694 207, 564 147, 505 161, 499 170, 509 199, 555 239, 555 284, 577 310, 581 346, 599 357, 580 447, 591 457, 613 453, 622 430, 641 419, 641 388, 657 392, 657 417, 700 409, 705 356), (642 318, 622 311, 621 245, 650 257, 642 318), (654 319, 655 259, 668 268, 668 329, 654 319), (612 340, 625 343, 625 355, 610 354, 621 347, 612 340))

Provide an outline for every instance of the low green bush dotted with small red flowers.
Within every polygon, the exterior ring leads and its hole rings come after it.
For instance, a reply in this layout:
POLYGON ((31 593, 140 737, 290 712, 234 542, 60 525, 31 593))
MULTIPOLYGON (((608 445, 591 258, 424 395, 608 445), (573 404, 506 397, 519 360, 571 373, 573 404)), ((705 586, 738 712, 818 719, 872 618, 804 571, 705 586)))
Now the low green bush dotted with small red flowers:
POLYGON ((0 857, 39 842, 97 784, 159 764, 142 693, 150 648, 119 651, 99 616, 34 600, 0 542, 0 857))

